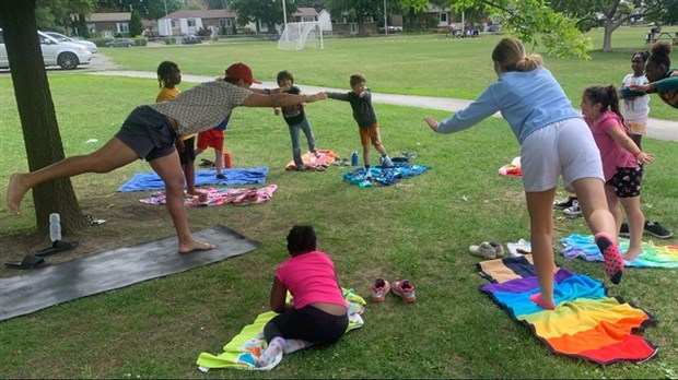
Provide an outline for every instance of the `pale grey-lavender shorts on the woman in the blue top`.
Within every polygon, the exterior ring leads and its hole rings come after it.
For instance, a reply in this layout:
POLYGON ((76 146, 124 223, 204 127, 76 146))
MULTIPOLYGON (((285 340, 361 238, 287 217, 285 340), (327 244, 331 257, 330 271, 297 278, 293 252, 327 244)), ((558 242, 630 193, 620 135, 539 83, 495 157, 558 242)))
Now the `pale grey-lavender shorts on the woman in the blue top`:
POLYGON ((600 153, 583 119, 565 119, 533 132, 521 147, 523 187, 540 192, 558 186, 560 176, 568 191, 582 178, 603 177, 600 153))

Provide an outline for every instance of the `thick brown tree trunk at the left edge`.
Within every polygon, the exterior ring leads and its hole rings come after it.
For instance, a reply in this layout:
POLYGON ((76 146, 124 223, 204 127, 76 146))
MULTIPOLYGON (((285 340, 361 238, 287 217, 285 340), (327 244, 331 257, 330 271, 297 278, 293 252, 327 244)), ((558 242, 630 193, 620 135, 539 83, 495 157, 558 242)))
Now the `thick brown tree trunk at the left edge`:
MULTIPOLYGON (((0 17, 28 169, 34 171, 63 158, 63 145, 36 35, 35 0, 0 0, 0 17)), ((33 201, 39 233, 49 230, 49 214, 54 212, 61 215, 65 233, 87 226, 68 178, 36 186, 33 201)))

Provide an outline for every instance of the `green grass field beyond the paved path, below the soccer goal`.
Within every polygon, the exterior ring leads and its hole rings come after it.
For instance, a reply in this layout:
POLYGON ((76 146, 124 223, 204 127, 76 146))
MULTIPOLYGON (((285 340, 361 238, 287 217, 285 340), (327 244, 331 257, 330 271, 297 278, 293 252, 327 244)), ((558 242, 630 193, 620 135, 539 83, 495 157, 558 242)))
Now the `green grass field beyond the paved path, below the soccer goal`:
MULTIPOLYGON (((648 48, 644 45, 645 32, 640 27, 621 27, 612 35, 615 51, 594 50, 589 61, 545 57, 546 67, 572 103, 578 105, 585 87, 619 85, 632 72, 632 54, 648 48)), ((601 32, 593 32, 591 37, 599 49, 601 32)), ((157 62, 167 59, 176 61, 186 74, 217 76, 223 75, 231 63, 242 61, 260 80, 274 81, 278 71, 287 69, 299 84, 336 88, 348 88, 349 75, 360 71, 374 92, 474 99, 496 81, 490 55, 499 38, 446 39, 441 34, 327 39, 324 50, 299 52, 278 50, 270 41, 227 40, 188 47, 105 48, 102 52, 110 55, 124 70, 155 71, 157 62)), ((534 52, 545 54, 540 48, 534 52)), ((651 103, 651 116, 676 119, 675 109, 658 98, 651 103)))

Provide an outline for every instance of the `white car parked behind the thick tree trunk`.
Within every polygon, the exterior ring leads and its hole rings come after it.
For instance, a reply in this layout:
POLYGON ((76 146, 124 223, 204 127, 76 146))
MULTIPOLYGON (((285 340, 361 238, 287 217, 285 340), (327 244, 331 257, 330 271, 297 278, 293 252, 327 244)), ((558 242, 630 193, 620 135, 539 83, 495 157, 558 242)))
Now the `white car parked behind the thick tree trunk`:
MULTIPOLYGON (((84 45, 59 43, 57 39, 37 31, 45 66, 60 66, 65 70, 73 70, 80 64, 89 64, 92 54, 84 45)), ((9 69, 4 37, 0 29, 0 69, 9 69)))

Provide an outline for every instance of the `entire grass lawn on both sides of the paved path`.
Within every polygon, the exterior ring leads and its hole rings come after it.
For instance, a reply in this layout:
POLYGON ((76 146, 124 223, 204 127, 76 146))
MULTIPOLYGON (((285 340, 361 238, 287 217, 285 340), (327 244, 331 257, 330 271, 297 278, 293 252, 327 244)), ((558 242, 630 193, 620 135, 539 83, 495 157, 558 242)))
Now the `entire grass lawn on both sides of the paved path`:
MULTIPOLYGON (((584 86, 618 83, 630 70, 630 54, 643 47, 643 31, 622 32, 633 39, 619 38, 620 51, 594 52, 592 61, 547 57, 547 64, 573 102, 578 103, 584 86), (635 39, 638 44, 632 45, 635 39)), ((217 75, 230 62, 245 61, 262 80, 289 69, 300 84, 331 87, 346 87, 348 75, 360 70, 377 92, 472 98, 494 80, 488 60, 494 44, 491 38, 327 40, 326 50, 301 54, 278 51, 272 43, 102 52, 129 70, 152 71, 159 61, 172 59, 185 73, 217 75)), ((132 107, 152 102, 157 93, 152 80, 81 72, 50 71, 49 83, 67 155, 101 146, 132 107), (87 143, 91 139, 97 142, 87 143)), ((653 98, 651 105, 653 112, 665 108, 665 118, 675 119, 675 110, 658 99, 653 98)), ((331 347, 290 355, 271 372, 214 370, 210 378, 678 377, 678 307, 670 301, 675 271, 630 269, 622 284, 610 289, 611 296, 622 297, 661 320, 642 332, 661 347, 656 357, 644 364, 599 367, 550 354, 528 329, 478 290, 486 281, 476 273, 478 259, 468 254, 472 244, 528 238, 521 182, 496 175, 519 150, 505 121, 490 118, 469 131, 437 135, 422 117, 443 118, 447 112, 389 105, 375 108, 387 151, 391 155, 414 151, 417 163, 431 166, 430 171, 394 187, 369 189, 342 182, 341 175, 348 170, 343 167, 324 173, 285 171, 291 144, 284 121, 270 109, 236 109, 226 135, 234 165, 269 167, 267 182, 278 185, 279 190, 261 205, 189 209, 189 221, 192 230, 222 224, 261 241, 262 247, 217 264, 0 322, 0 377, 204 378, 195 365, 198 355, 220 353, 245 324, 268 310, 274 269, 287 258, 284 237, 296 223, 315 226, 319 248, 334 258, 342 286, 367 297, 375 277, 409 278, 417 286, 417 302, 404 305, 389 296, 384 304, 369 305, 363 329, 331 347)), ((348 104, 312 104, 307 114, 318 147, 341 156, 359 150, 348 104)), ((0 78, 0 115, 3 199, 9 175, 27 168, 12 83, 7 76, 0 78)), ((678 143, 644 139, 643 146, 657 157, 647 166, 643 181, 645 214, 675 230, 678 143)), ((213 155, 208 152, 204 157, 213 155)), ((107 221, 67 236, 80 242, 72 254, 82 257, 173 236, 164 207, 138 202, 148 193, 116 192, 139 171, 150 171, 150 167, 137 162, 108 175, 72 179, 83 212, 107 221)), ((557 238, 587 233, 582 219, 554 216, 557 238)), ((33 218, 30 197, 20 216, 10 216, 7 207, 0 206, 2 261, 48 245, 46 236, 32 234, 33 218)), ((677 244, 675 238, 658 242, 677 244)), ((50 261, 67 259, 56 256, 50 261)), ((558 254, 557 262, 605 278, 601 263, 565 260, 558 254)), ((15 274, 0 270, 1 276, 15 274)))

